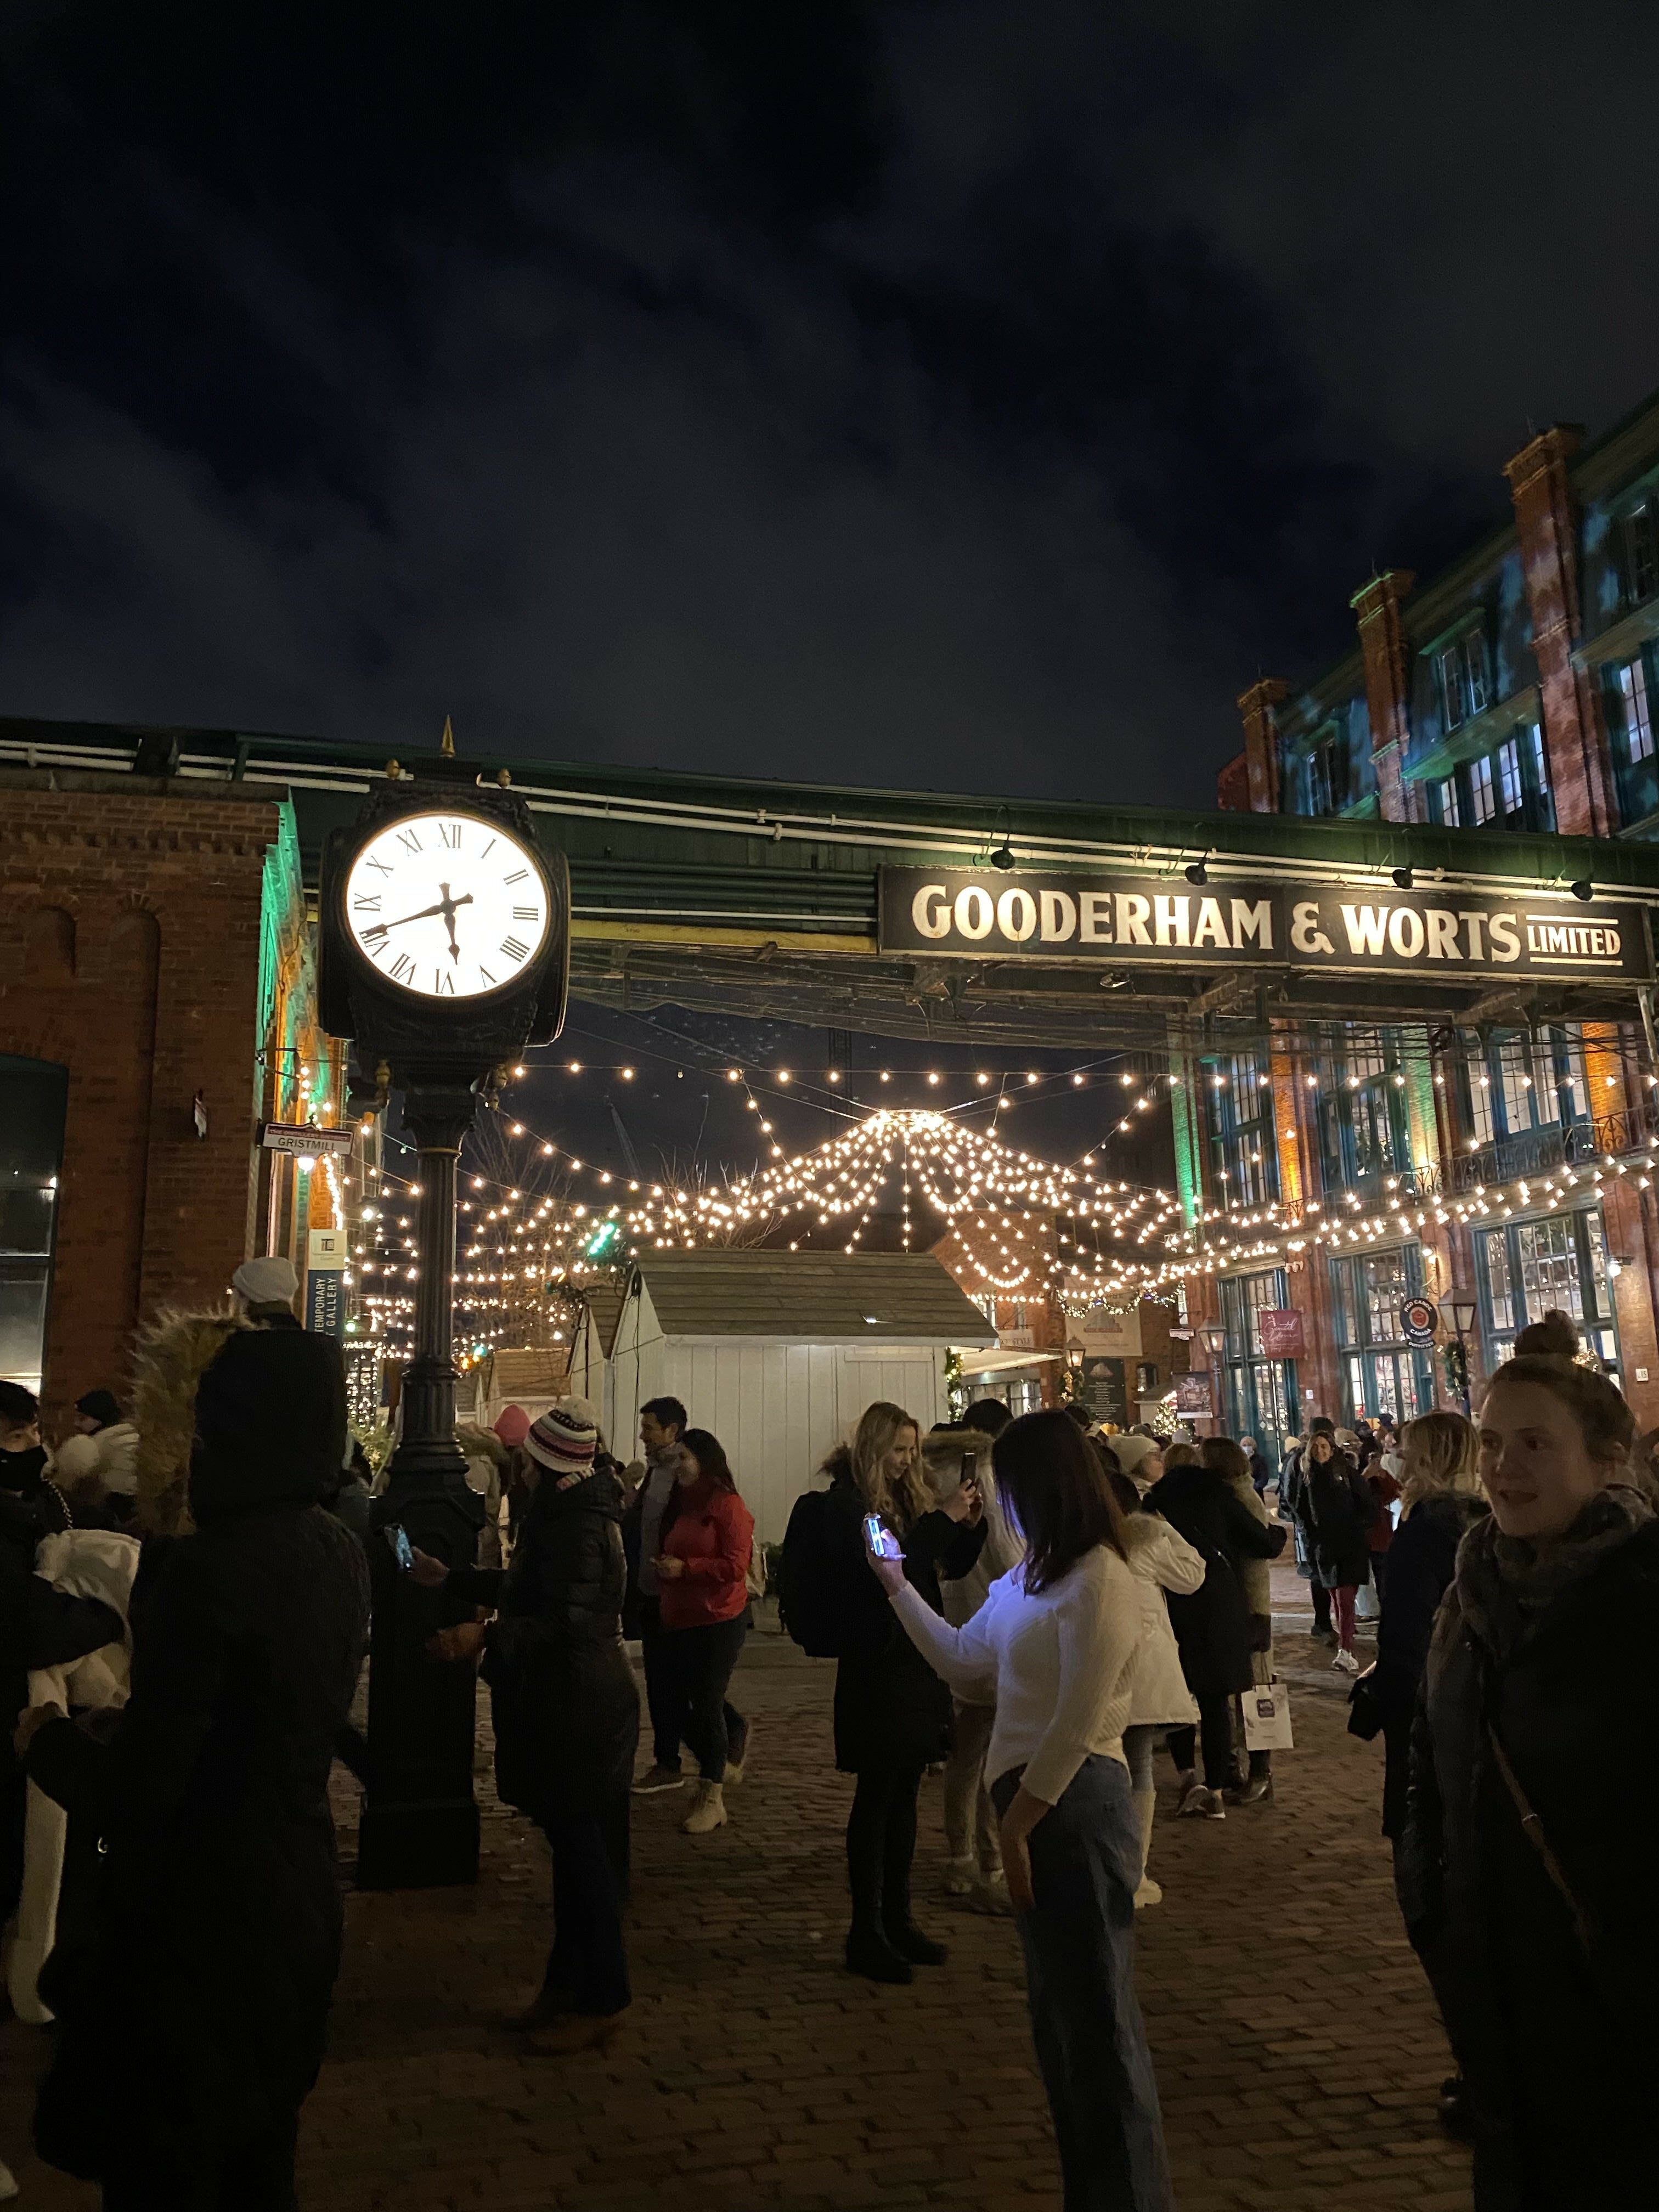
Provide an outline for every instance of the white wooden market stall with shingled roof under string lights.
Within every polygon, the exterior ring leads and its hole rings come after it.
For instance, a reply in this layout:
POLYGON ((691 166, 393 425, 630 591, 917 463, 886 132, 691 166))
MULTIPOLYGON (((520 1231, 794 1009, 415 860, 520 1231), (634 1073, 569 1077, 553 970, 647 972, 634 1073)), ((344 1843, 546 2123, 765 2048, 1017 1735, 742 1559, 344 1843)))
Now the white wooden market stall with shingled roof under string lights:
POLYGON ((763 1544, 874 1398, 927 1431, 949 1418, 947 1354, 995 1343, 929 1252, 648 1252, 608 1345, 606 1321, 588 1307, 577 1323, 571 1389, 611 1449, 630 1458, 639 1407, 679 1398, 726 1447, 763 1544))

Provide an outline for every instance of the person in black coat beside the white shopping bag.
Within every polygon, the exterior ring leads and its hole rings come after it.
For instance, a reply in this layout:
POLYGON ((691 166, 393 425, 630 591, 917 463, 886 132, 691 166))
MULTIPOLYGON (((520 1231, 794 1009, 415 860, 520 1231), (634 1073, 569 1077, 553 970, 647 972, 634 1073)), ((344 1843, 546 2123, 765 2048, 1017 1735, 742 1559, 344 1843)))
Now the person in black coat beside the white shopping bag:
POLYGON ((1166 1741, 1177 1770, 1192 1776, 1181 1792, 1181 1812, 1223 1820, 1221 1792, 1243 1778, 1234 1770, 1232 1701, 1254 1681, 1239 1562, 1276 1559, 1285 1531, 1259 1522, 1228 1478, 1199 1462, 1192 1444, 1170 1444, 1164 1453, 1164 1475, 1146 1493, 1146 1511, 1161 1513, 1206 1559, 1199 1588, 1168 1599, 1181 1672, 1199 1703, 1203 1781, 1192 1774, 1192 1730, 1172 1728, 1166 1741))

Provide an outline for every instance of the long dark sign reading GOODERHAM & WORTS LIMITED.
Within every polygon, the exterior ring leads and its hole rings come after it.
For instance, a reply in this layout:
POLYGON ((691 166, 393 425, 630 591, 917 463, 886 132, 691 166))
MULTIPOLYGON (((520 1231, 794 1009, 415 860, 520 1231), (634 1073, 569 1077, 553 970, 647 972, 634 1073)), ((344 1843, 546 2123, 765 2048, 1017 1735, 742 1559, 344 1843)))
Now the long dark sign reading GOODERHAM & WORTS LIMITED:
POLYGON ((1389 975, 1646 982, 1641 907, 1396 891, 1391 885, 1188 885, 1170 876, 880 869, 880 949, 1119 967, 1292 967, 1389 975))

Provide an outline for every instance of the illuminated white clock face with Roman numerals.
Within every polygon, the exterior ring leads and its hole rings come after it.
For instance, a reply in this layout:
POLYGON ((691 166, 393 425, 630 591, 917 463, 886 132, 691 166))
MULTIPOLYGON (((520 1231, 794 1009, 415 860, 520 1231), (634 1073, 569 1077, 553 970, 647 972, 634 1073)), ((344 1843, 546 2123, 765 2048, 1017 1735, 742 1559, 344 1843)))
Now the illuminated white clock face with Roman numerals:
POLYGON ((405 814, 345 878, 363 958, 416 998, 480 998, 520 980, 553 922, 535 854, 478 814, 405 814))

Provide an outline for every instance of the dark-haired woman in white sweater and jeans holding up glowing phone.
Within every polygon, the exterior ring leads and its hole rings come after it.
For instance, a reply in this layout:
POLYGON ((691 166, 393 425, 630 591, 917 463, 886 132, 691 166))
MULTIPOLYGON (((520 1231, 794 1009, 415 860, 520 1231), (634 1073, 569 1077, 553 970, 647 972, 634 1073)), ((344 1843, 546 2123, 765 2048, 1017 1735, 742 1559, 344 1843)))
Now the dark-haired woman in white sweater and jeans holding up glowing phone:
MULTIPOLYGON (((984 1772, 1026 1955, 1066 2212, 1172 2212, 1164 2121, 1135 2000, 1141 1829, 1124 1763, 1141 1597, 1104 1471, 1062 1411, 1011 1422, 998 1491, 1026 1544, 962 1628, 869 1564, 905 1635, 962 1694, 995 1686, 984 1772)), ((891 1537, 887 1540, 891 1544, 891 1537)))

